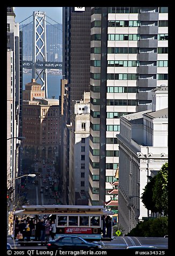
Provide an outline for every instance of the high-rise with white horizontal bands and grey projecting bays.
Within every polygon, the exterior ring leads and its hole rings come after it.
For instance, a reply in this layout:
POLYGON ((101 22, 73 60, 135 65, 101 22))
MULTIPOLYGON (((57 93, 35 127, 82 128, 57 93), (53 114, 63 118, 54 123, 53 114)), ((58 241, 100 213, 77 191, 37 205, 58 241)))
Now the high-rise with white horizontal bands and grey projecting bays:
POLYGON ((120 116, 151 109, 151 90, 167 85, 167 22, 166 7, 91 8, 91 205, 113 201, 120 116))

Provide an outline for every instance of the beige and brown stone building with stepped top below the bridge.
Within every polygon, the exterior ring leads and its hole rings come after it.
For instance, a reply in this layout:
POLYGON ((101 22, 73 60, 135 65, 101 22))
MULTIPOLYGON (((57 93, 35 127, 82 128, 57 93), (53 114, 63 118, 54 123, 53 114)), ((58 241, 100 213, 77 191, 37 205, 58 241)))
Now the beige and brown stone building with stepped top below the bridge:
POLYGON ((23 150, 35 159, 55 160, 60 141, 59 99, 45 98, 32 79, 23 91, 23 150))

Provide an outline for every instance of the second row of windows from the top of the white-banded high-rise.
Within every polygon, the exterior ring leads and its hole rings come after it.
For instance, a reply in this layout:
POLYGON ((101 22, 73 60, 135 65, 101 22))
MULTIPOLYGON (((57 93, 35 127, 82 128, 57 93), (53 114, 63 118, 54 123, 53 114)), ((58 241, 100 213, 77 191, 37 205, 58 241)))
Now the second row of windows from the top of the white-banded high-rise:
MULTIPOLYGON (((100 27, 101 23, 98 24, 100 27)), ((108 20, 108 27, 140 27, 142 22, 140 20, 108 20)), ((167 27, 168 20, 159 20, 159 22, 154 22, 155 26, 167 27)))

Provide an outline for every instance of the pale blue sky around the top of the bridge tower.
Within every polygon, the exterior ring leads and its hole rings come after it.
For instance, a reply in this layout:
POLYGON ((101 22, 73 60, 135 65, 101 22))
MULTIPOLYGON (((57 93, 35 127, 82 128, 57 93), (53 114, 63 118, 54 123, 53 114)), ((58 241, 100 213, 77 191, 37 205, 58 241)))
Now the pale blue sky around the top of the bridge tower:
MULTIPOLYGON (((55 20, 55 22, 62 24, 62 7, 14 7, 14 13, 16 14, 15 22, 20 23, 23 20, 27 19, 28 17, 33 15, 33 11, 46 12, 46 16, 55 20)), ((27 19, 26 22, 29 22, 30 19, 27 19)), ((51 23, 51 20, 48 19, 48 22, 51 23)), ((46 23, 46 25, 48 24, 46 23)))

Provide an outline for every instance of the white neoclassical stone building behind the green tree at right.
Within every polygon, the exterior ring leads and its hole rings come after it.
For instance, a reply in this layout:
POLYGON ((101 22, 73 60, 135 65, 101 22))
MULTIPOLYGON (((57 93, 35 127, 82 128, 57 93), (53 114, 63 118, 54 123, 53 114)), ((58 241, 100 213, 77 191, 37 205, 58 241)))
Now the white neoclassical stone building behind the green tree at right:
MULTIPOLYGON (((150 212, 141 202, 149 178, 168 161, 167 87, 152 90, 157 111, 142 111, 120 118, 119 139, 119 225, 127 234, 150 212), (161 101, 161 93, 166 101, 161 101), (157 93, 158 92, 158 93, 157 93), (166 96, 165 96, 166 95, 166 96), (157 99, 157 98, 158 99, 157 99), (163 109, 162 109, 163 108, 163 109)), ((155 106, 154 106, 155 108, 155 106)))

